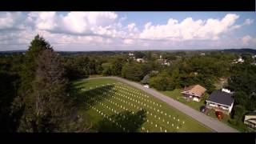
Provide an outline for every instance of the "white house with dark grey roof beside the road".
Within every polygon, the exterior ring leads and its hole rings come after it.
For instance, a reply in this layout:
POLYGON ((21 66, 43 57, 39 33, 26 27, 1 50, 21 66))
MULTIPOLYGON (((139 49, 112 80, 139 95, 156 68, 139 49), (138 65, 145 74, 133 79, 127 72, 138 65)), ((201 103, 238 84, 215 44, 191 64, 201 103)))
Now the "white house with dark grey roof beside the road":
POLYGON ((206 107, 230 114, 234 105, 233 94, 221 90, 214 90, 206 99, 206 107))

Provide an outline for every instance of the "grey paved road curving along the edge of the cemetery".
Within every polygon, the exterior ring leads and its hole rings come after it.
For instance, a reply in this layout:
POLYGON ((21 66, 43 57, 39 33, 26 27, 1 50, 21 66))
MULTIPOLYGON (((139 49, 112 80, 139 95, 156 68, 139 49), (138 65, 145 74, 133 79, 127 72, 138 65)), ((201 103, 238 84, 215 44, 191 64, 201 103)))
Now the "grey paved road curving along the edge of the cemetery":
MULTIPOLYGON (((222 122, 218 122, 218 120, 216 120, 214 118, 210 118, 206 114, 202 114, 201 112, 194 110, 194 109, 190 108, 189 106, 186 106, 185 104, 174 100, 173 98, 167 97, 166 95, 159 93, 157 90, 146 88, 136 82, 130 82, 124 78, 118 78, 118 77, 100 77, 100 78, 112 78, 112 79, 115 79, 115 80, 118 80, 121 82, 125 82, 126 84, 128 84, 130 86, 134 86, 140 90, 143 90, 146 93, 153 95, 155 98, 158 98, 158 99, 162 100, 163 102, 166 102, 168 105, 178 109, 182 113, 189 115, 190 117, 194 118, 198 122, 201 122, 205 126, 210 127, 210 129, 212 129, 216 132, 223 132, 223 133, 238 132, 238 130, 235 130, 234 128, 232 128, 230 126, 227 126, 226 124, 224 124, 222 122)), ((89 78, 89 79, 94 79, 94 78, 89 78)))

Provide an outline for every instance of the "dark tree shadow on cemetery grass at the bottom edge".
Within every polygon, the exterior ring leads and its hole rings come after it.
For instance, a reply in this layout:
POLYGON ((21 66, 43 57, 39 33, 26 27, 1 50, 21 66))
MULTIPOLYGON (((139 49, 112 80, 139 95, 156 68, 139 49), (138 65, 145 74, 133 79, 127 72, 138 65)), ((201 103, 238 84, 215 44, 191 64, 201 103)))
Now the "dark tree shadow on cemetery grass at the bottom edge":
POLYGON ((99 132, 138 132, 142 124, 146 122, 146 110, 139 110, 135 114, 130 111, 122 111, 121 114, 113 114, 109 118, 114 122, 108 118, 103 118, 98 122, 99 132))

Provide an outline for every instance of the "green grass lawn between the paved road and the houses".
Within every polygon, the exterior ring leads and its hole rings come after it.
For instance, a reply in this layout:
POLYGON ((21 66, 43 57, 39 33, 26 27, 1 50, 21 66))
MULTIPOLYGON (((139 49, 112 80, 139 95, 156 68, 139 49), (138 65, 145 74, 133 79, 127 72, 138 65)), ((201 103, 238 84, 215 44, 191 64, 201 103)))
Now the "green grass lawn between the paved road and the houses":
MULTIPOLYGON (((186 104, 187 106, 190 106, 194 110, 200 110, 200 107, 205 105, 204 99, 206 99, 207 95, 205 95, 204 98, 200 102, 194 102, 194 101, 189 102, 185 98, 182 98, 181 92, 182 92, 182 90, 180 90, 180 89, 175 89, 172 91, 170 91, 170 90, 161 91, 162 94, 165 94, 166 96, 168 96, 170 98, 174 98, 178 102, 182 102, 182 103, 186 104)), ((218 118, 216 117, 216 115, 214 113, 214 110, 207 110, 206 114, 208 116, 218 120, 218 118)), ((230 115, 223 114, 223 119, 219 120, 219 121, 224 122, 226 125, 234 127, 235 129, 237 129, 241 132, 246 131, 246 126, 234 126, 234 125, 230 124, 229 120, 231 120, 230 115)))

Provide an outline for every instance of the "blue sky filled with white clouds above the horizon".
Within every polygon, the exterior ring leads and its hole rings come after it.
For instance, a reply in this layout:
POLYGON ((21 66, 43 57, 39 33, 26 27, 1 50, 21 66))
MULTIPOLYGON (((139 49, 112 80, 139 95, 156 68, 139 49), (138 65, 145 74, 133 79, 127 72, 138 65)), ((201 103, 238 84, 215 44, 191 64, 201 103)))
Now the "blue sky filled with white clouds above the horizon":
POLYGON ((0 12, 0 51, 256 49, 255 12, 0 12))

